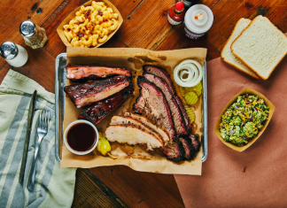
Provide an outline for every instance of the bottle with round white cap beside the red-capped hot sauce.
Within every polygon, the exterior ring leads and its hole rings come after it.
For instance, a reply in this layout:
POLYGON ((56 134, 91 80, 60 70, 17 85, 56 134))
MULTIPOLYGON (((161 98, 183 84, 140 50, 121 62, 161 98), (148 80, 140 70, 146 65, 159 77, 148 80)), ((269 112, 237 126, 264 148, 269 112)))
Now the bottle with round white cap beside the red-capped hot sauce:
POLYGON ((213 12, 204 4, 195 4, 185 13, 184 25, 185 35, 196 40, 212 27, 213 12))

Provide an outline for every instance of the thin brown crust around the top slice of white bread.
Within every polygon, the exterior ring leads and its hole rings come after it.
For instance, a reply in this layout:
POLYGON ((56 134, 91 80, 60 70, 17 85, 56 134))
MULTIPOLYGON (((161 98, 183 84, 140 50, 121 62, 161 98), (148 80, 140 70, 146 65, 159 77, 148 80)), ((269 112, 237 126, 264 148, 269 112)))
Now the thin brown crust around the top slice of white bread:
MULTIPOLYGON (((234 52, 234 50, 233 50, 233 44, 235 43, 235 42, 237 42, 237 39, 238 38, 240 38, 243 34, 244 34, 244 32, 249 28, 249 27, 251 27, 252 26, 252 23, 256 20, 256 19, 258 19, 258 18, 261 18, 262 17, 262 15, 260 15, 260 16, 258 16, 258 17, 256 17, 256 18, 254 18, 253 20, 252 20, 252 22, 244 29, 244 31, 242 31, 242 33, 240 34, 240 35, 238 35, 238 37, 234 40, 234 42, 232 42, 232 44, 231 44, 231 46, 230 46, 230 49, 231 49, 231 52, 233 53, 233 55, 236 57, 236 58, 238 58, 242 63, 244 63, 244 65, 246 65, 253 73, 255 73, 256 75, 258 75, 259 77, 260 77, 260 79, 262 79, 262 80, 268 80, 268 78, 270 77, 270 75, 271 75, 271 73, 273 73, 273 71, 275 70, 275 67, 277 66, 277 65, 279 65, 279 63, 283 60, 283 58, 286 56, 286 54, 287 54, 287 50, 286 50, 286 52, 285 52, 285 54, 283 55, 283 57, 277 62, 277 64, 271 69, 271 71, 270 71, 270 73, 268 74, 268 76, 267 77, 263 77, 263 76, 261 76, 258 72, 256 72, 256 70, 254 70, 253 68, 252 68, 252 66, 250 66, 250 65, 248 65, 246 62, 244 62, 244 60, 242 59, 242 58, 240 58, 239 56, 237 56, 237 54, 234 52)), ((264 18, 264 17, 263 17, 264 18)), ((266 19, 268 19, 268 18, 266 18, 266 19)), ((273 26, 273 27, 275 27, 275 25, 268 19, 268 21, 271 23, 271 25, 273 26)), ((280 33, 282 33, 277 27, 275 27, 275 29, 276 30, 278 30, 280 33)), ((283 34, 283 33, 282 33, 283 34)), ((284 35, 284 34, 283 34, 284 35)), ((284 35, 285 36, 285 35, 284 35)))

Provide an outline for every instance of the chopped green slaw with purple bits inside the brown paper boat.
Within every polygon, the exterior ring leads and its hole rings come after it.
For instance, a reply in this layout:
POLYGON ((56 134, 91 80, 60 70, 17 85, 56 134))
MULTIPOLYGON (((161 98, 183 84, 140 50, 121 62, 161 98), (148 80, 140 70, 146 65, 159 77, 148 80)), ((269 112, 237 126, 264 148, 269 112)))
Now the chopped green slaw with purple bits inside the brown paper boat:
POLYGON ((244 94, 231 104, 221 115, 221 137, 228 143, 244 146, 258 135, 264 121, 268 119, 269 108, 258 96, 244 94))

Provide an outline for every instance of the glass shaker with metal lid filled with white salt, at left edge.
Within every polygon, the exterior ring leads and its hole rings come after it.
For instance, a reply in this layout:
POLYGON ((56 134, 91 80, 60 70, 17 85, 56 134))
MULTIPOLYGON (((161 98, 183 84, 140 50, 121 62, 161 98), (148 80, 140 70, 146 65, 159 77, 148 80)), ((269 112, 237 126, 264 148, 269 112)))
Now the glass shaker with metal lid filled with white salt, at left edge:
POLYGON ((14 42, 3 42, 0 46, 0 55, 10 65, 21 67, 27 62, 27 50, 14 42))

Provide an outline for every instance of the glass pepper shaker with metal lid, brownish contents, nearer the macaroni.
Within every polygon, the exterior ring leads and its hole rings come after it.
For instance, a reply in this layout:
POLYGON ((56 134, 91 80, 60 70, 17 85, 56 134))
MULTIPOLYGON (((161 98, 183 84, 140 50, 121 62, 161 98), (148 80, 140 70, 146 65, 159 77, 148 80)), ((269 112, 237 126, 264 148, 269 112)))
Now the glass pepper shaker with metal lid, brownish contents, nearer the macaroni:
POLYGON ((48 41, 45 29, 36 26, 30 20, 25 20, 20 24, 19 32, 23 36, 27 46, 32 49, 43 48, 44 44, 48 41))

